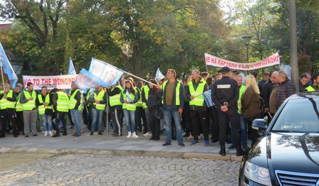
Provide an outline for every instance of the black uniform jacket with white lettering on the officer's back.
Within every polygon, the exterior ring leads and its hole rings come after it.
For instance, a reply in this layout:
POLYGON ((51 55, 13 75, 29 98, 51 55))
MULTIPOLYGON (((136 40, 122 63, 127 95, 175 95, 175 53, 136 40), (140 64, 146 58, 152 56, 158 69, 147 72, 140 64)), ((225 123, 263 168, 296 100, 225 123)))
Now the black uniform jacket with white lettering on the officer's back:
POLYGON ((239 97, 239 88, 235 80, 230 77, 222 77, 213 85, 213 102, 220 108, 225 102, 228 103, 228 108, 235 106, 239 97))

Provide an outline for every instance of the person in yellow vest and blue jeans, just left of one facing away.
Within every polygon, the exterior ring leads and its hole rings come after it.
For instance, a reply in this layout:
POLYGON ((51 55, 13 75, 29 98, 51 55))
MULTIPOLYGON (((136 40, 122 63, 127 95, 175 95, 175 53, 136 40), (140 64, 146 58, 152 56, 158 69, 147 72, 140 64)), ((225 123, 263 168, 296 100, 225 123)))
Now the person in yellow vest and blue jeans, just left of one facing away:
POLYGON ((39 115, 42 119, 44 136, 52 136, 52 98, 47 93, 47 87, 41 88, 41 94, 38 94, 35 104, 38 106, 39 115))

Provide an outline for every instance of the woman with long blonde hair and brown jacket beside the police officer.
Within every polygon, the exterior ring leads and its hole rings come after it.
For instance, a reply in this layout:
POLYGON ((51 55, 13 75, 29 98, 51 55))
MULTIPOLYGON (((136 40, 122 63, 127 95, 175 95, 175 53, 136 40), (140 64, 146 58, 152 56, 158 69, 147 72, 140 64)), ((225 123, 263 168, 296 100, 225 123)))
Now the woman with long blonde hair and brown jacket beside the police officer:
POLYGON ((242 94, 242 116, 244 116, 247 126, 250 129, 252 146, 258 138, 258 131, 252 128, 252 121, 261 118, 262 109, 260 108, 259 89, 253 75, 247 75, 245 92, 242 94))

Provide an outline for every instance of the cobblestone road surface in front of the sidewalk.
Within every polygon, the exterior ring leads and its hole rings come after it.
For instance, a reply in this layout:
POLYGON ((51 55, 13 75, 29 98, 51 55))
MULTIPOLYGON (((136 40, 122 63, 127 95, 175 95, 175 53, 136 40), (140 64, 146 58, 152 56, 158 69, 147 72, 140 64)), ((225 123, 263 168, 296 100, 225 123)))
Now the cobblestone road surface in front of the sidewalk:
POLYGON ((238 162, 66 154, 0 172, 0 185, 237 185, 238 162))

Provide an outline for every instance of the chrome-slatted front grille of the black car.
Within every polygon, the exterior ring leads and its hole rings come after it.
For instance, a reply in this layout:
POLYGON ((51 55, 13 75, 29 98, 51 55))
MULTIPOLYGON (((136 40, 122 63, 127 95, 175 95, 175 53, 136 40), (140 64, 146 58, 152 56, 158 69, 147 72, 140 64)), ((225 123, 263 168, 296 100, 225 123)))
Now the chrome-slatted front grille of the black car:
POLYGON ((319 175, 307 173, 293 173, 288 171, 276 170, 276 177, 281 186, 289 185, 309 185, 319 186, 319 175))

